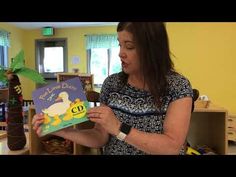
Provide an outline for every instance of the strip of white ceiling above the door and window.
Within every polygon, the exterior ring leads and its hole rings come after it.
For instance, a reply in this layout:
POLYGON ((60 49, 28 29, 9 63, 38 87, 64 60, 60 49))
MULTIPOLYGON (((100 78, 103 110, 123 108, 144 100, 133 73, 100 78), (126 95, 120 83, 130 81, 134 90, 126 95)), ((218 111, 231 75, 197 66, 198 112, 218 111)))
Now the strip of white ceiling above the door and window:
POLYGON ((46 26, 54 28, 84 27, 84 26, 108 26, 117 25, 117 22, 8 22, 22 29, 41 29, 46 26))

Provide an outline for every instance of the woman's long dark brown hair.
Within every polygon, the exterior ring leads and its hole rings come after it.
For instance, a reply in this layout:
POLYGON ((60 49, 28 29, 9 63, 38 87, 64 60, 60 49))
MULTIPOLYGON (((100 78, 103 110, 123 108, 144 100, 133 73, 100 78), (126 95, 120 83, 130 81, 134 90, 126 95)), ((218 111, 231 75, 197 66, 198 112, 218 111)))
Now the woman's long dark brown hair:
MULTIPOLYGON (((141 72, 154 102, 160 105, 160 97, 167 90, 166 76, 174 71, 170 57, 169 41, 164 23, 161 22, 120 22, 117 32, 130 32, 136 43, 141 72)), ((121 74, 124 82, 128 76, 121 74)))

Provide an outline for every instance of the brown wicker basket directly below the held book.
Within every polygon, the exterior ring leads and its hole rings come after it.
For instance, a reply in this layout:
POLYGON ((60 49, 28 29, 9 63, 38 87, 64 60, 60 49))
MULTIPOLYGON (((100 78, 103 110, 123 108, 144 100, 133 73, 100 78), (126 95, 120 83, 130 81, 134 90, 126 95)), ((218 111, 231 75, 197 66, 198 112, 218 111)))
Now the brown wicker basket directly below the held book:
POLYGON ((60 137, 42 141, 44 150, 50 154, 70 155, 73 153, 73 143, 60 137))

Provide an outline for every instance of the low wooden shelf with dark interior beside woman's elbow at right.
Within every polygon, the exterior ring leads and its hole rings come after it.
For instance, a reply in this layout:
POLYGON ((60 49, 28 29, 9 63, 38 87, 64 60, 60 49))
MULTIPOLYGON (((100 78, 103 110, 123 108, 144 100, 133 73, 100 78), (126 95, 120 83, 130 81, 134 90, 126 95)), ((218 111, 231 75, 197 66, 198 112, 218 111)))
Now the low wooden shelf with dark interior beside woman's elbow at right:
POLYGON ((227 154, 227 114, 227 110, 215 106, 195 109, 187 137, 190 145, 206 145, 217 154, 227 154))

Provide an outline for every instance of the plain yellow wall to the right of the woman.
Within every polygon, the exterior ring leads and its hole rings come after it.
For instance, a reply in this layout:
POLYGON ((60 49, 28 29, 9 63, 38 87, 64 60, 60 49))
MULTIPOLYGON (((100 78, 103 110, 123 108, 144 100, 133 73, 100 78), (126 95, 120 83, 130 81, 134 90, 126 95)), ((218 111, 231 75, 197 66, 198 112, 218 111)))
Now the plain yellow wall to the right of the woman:
POLYGON ((167 23, 175 66, 200 94, 236 113, 236 23, 167 23))

